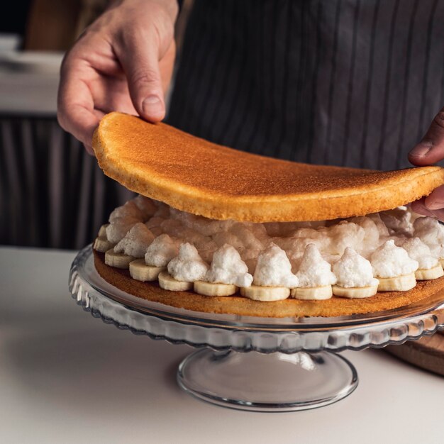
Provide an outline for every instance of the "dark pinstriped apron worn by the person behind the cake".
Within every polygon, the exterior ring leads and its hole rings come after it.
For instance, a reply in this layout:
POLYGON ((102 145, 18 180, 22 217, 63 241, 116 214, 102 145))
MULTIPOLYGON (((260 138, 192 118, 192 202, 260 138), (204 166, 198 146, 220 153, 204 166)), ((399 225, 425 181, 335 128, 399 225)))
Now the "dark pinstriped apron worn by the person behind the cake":
POLYGON ((443 0, 196 0, 168 121, 217 143, 379 170, 444 105, 443 0))

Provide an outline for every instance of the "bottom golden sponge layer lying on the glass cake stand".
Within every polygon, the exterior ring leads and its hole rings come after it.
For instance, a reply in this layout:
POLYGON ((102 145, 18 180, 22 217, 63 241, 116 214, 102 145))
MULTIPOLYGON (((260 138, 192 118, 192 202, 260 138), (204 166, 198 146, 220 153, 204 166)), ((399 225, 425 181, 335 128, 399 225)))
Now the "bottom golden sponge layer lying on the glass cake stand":
POLYGON ((128 270, 105 265, 104 253, 94 251, 94 265, 107 282, 126 293, 148 301, 160 302, 179 309, 205 313, 237 314, 263 318, 287 318, 303 316, 348 316, 396 309, 426 299, 444 289, 444 277, 416 284, 409 292, 384 292, 365 299, 344 299, 333 296, 325 301, 259 302, 240 296, 201 296, 193 292, 169 292, 157 282, 140 282, 132 279, 128 270))

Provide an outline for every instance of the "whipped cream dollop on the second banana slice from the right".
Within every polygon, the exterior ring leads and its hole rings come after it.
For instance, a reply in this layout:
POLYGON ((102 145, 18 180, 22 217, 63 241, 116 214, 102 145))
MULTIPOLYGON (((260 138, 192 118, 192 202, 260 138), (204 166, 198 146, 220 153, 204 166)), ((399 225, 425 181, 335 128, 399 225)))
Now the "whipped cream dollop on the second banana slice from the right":
POLYGON ((387 240, 370 257, 374 276, 404 276, 418 270, 418 262, 409 257, 406 250, 396 247, 394 240, 387 240))

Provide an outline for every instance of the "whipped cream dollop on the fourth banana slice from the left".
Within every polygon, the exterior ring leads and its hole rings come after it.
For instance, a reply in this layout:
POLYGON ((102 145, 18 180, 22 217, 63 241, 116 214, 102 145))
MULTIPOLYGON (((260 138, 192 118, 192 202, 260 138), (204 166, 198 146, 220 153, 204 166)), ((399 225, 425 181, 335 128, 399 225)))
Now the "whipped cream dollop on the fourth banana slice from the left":
POLYGON ((202 260, 196 247, 191 243, 182 243, 179 255, 168 264, 168 272, 178 281, 201 281, 208 270, 208 264, 202 260))

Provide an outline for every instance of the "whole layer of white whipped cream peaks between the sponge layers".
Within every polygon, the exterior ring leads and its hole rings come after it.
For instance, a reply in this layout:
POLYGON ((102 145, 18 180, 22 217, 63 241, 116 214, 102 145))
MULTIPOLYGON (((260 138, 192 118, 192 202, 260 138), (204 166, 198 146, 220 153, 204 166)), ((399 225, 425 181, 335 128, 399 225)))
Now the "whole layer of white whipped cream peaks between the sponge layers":
MULTIPOLYGON (((375 276, 394 277, 411 272, 406 270, 414 270, 417 262, 428 270, 444 258, 444 226, 407 207, 343 221, 250 223, 195 216, 139 195, 116 208, 109 221, 106 238, 118 252, 145 255, 148 265, 166 267, 180 256, 180 244, 190 244, 199 256, 186 249, 193 270, 211 263, 205 279, 243 287, 251 284, 250 274, 264 286, 319 287, 333 282, 331 265, 352 274, 348 281, 336 276, 338 284, 359 287, 374 279, 365 259, 371 260, 375 276), (355 268, 348 264, 350 257, 355 268)), ((185 268, 177 275, 186 274, 185 268)))

